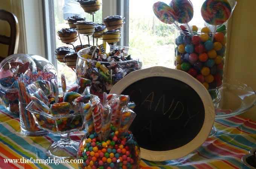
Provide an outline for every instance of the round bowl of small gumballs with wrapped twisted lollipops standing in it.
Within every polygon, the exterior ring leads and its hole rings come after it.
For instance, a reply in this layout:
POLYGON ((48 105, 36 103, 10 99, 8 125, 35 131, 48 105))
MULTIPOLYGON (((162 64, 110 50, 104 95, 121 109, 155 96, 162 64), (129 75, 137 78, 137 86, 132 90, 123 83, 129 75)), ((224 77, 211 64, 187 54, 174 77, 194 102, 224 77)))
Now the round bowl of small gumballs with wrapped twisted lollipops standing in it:
POLYGON ((104 93, 102 103, 94 96, 78 106, 84 112, 87 129, 78 146, 77 158, 83 160, 79 168, 137 169, 140 148, 128 130, 136 116, 129 96, 104 93))

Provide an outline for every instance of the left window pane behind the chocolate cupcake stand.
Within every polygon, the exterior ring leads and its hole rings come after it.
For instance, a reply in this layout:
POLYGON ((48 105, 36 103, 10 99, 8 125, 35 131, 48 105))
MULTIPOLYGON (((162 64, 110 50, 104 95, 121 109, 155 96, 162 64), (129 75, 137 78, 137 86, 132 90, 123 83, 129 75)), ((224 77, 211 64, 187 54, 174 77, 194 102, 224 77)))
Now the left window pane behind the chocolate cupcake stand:
MULTIPOLYGON (((102 3, 102 0, 100 0, 102 3)), ((86 18, 86 21, 93 21, 93 15, 85 13, 84 10, 80 7, 80 4, 76 0, 54 0, 54 16, 55 16, 55 35, 56 35, 56 48, 66 46, 73 48, 72 45, 67 45, 62 43, 58 39, 57 31, 62 28, 69 28, 69 24, 66 24, 67 21, 64 20, 67 17, 73 15, 81 15, 86 18)), ((99 11, 96 11, 94 14, 94 22, 102 23, 102 8, 99 11)), ((87 36, 80 35, 82 45, 88 44, 87 36)), ((93 44, 93 38, 89 35, 90 45, 93 44)), ((96 44, 96 39, 95 39, 96 44)), ((102 44, 102 40, 98 40, 98 44, 102 44)), ((79 39, 73 44, 74 46, 81 45, 79 39)), ((57 61, 59 81, 61 73, 64 73, 66 76, 67 84, 73 83, 76 80, 75 72, 65 65, 57 61)))

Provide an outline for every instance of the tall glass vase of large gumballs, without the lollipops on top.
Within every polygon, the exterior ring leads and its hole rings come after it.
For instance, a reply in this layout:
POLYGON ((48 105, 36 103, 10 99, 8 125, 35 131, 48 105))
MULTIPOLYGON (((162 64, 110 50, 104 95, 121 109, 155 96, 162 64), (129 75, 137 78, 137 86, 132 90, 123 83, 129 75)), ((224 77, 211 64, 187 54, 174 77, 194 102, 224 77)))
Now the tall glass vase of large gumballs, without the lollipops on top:
POLYGON ((196 26, 187 31, 175 32, 175 68, 185 71, 208 89, 213 101, 219 100, 218 88, 222 85, 226 51, 226 26, 211 32, 196 26))

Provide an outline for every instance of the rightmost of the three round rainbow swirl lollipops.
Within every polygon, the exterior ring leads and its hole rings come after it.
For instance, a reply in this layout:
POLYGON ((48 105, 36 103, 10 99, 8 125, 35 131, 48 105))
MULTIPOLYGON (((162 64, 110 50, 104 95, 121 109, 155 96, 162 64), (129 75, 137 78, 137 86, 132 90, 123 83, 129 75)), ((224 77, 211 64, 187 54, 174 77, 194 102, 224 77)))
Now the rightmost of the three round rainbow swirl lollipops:
POLYGON ((201 15, 210 25, 224 24, 231 15, 231 6, 227 0, 206 0, 201 8, 201 15))

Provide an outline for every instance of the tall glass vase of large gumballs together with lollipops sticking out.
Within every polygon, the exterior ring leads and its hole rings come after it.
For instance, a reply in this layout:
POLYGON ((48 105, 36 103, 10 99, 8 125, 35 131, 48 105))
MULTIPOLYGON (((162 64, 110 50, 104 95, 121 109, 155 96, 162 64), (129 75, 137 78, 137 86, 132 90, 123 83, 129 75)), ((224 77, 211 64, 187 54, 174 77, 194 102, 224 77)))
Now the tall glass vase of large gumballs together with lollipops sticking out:
MULTIPOLYGON (((186 0, 184 0, 186 1, 186 0)), ((206 0, 201 7, 205 27, 187 24, 192 20, 193 5, 172 0, 170 6, 177 15, 178 23, 175 32, 175 68, 186 71, 197 78, 208 89, 213 101, 218 98, 218 88, 222 85, 227 44, 225 23, 236 6, 235 0, 206 0), (184 15, 182 15, 184 14, 184 15)))

